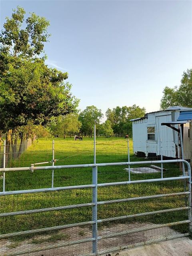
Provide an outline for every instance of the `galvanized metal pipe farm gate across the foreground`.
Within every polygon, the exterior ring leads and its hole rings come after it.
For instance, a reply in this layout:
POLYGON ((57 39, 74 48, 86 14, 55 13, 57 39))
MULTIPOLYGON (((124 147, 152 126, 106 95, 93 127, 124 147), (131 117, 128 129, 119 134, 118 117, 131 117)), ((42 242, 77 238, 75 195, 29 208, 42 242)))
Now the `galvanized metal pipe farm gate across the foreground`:
MULTIPOLYGON (((33 196, 39 194, 39 203, 44 200, 44 196, 52 198, 52 202, 56 202, 58 193, 68 191, 68 194, 63 194, 63 206, 38 208, 30 210, 11 211, 11 206, 7 207, 7 212, 0 212, 1 229, 4 224, 10 222, 10 230, 0 234, 0 255, 1 256, 50 256, 50 255, 101 255, 108 252, 118 251, 133 246, 150 244, 160 240, 168 240, 188 236, 192 231, 192 202, 191 202, 191 168, 190 164, 185 160, 161 160, 161 161, 144 161, 144 162, 118 162, 118 163, 102 163, 102 164, 81 164, 67 166, 31 166, 22 168, 1 168, 0 172, 17 172, 30 171, 38 172, 38 170, 56 170, 66 168, 92 168, 92 183, 79 186, 64 186, 57 188, 40 188, 31 190, 4 191, 0 192, 0 204, 22 201, 22 198, 29 196, 26 208, 32 206, 33 196), (122 182, 108 182, 98 184, 98 170, 104 166, 132 166, 138 164, 160 164, 160 163, 176 163, 182 162, 187 166, 188 173, 183 172, 182 176, 169 178, 154 178, 145 180, 129 180, 122 182), (184 182, 183 191, 175 192, 168 190, 166 185, 163 186, 162 194, 150 194, 148 196, 135 196, 130 198, 120 198, 114 200, 101 200, 108 191, 108 196, 112 196, 112 188, 116 188, 117 198, 118 189, 122 187, 124 193, 129 191, 130 187, 135 186, 135 189, 140 190, 141 184, 150 184, 148 190, 155 191, 158 184, 170 184, 172 182, 184 182), (73 191, 76 191, 73 193, 73 191), (80 192, 78 192, 80 191, 80 192), (70 198, 86 196, 86 191, 90 191, 90 201, 82 204, 65 205, 67 196, 70 198), (47 194, 46 194, 47 193, 47 194), (23 195, 23 197, 20 197, 23 195), (172 198, 170 201, 170 198, 172 198), (166 201, 166 200, 167 201, 166 201), (17 201, 18 200, 18 201, 17 201), (142 202, 142 204, 141 204, 142 202), (174 204, 170 204, 174 202, 174 204), (121 214, 121 209, 124 206, 130 205, 134 214, 121 214), (152 205, 153 211, 147 211, 152 205), (171 207, 170 205, 175 205, 171 207), (118 216, 113 216, 113 209, 118 206, 118 216), (108 208, 109 207, 109 208, 108 208), (146 209, 144 212, 137 212, 140 207, 146 209), (88 209, 86 212, 78 212, 80 209, 88 209), (57 225, 61 219, 60 212, 65 212, 62 215, 63 224, 57 225), (74 211, 74 212, 72 212, 74 211), (54 226, 44 227, 39 222, 39 215, 44 214, 43 219, 49 218, 53 212, 54 226), (102 212, 102 214, 101 214, 102 212), (100 216, 108 216, 110 218, 100 218, 100 216), (180 214, 178 214, 180 213, 180 214), (36 215, 34 226, 36 228, 26 230, 28 223, 32 222, 32 216, 36 215), (74 214, 74 215, 73 215, 74 214), (20 216, 26 216, 23 221, 20 216), (85 220, 78 223, 73 223, 73 217, 76 216, 79 220, 85 220), (91 219, 90 219, 90 216, 91 219), (155 216, 155 217, 154 217, 155 216), (161 216, 165 216, 162 217, 161 216), (69 222, 65 222, 68 218, 69 222), (145 218, 145 219, 142 219, 145 218), (174 222, 170 219, 174 218, 174 222), (153 221, 155 220, 155 221, 153 221), (28 222, 28 223, 26 223, 28 222), (16 227, 16 223, 20 223, 20 230, 16 227), (58 231, 60 233, 58 233, 58 231)), ((184 169, 183 169, 184 170, 184 169)), ((47 197, 47 198, 48 198, 47 197)), ((24 209, 24 208, 23 208, 24 209)))

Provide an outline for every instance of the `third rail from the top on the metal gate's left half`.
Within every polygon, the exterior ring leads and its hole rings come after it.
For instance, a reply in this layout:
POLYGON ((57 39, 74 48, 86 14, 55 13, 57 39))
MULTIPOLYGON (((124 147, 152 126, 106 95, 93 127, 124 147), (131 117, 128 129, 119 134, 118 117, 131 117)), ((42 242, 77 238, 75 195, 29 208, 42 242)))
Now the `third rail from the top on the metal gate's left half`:
POLYGON ((74 204, 74 205, 66 205, 66 206, 34 209, 34 210, 25 210, 25 211, 19 211, 19 212, 5 212, 5 213, 0 213, 0 217, 16 216, 16 215, 22 215, 22 214, 32 214, 32 213, 37 213, 37 212, 51 212, 51 211, 58 211, 58 210, 81 208, 81 207, 86 207, 86 206, 94 206, 94 203, 74 204))

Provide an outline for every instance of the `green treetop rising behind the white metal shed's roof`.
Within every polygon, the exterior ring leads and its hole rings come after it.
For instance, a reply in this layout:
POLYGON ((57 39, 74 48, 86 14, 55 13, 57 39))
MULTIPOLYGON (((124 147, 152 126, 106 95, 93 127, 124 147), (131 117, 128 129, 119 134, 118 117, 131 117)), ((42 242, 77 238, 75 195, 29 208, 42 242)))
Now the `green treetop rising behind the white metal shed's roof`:
POLYGON ((170 106, 192 107, 192 69, 183 73, 179 87, 166 86, 163 90, 160 108, 162 110, 170 106))

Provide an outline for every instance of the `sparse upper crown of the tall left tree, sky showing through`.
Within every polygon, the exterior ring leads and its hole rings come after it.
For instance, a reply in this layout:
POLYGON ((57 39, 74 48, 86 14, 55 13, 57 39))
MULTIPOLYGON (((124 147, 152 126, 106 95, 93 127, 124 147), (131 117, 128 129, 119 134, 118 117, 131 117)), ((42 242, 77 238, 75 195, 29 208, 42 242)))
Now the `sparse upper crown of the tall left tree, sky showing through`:
POLYGON ((0 34, 4 52, 11 56, 34 57, 41 54, 50 36, 47 32, 50 22, 46 18, 32 13, 24 20, 25 13, 22 7, 14 9, 12 17, 6 17, 0 34))

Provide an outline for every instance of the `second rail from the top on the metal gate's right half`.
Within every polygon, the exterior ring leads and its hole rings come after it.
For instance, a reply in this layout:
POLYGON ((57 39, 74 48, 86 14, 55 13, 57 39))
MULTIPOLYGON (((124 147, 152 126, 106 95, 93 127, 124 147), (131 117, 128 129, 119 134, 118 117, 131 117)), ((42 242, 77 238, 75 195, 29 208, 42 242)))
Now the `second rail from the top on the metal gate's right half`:
POLYGON ((118 185, 127 185, 135 183, 145 183, 145 182, 158 182, 158 181, 168 181, 168 180, 186 180, 190 178, 189 176, 179 176, 179 177, 170 177, 170 178, 159 178, 159 179, 148 179, 148 180, 132 180, 132 181, 121 181, 121 182, 110 182, 110 183, 100 183, 98 187, 105 186, 118 186, 118 185))

